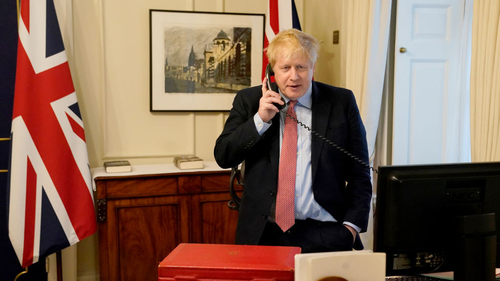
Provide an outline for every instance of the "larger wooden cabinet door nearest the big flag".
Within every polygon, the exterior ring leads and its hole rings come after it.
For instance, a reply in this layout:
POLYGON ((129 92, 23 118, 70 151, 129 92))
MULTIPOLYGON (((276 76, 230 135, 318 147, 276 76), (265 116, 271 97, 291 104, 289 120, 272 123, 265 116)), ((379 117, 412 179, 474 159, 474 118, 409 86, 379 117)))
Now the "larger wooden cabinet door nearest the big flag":
POLYGON ((109 200, 109 280, 157 280, 159 262, 189 242, 188 201, 188 195, 109 200))

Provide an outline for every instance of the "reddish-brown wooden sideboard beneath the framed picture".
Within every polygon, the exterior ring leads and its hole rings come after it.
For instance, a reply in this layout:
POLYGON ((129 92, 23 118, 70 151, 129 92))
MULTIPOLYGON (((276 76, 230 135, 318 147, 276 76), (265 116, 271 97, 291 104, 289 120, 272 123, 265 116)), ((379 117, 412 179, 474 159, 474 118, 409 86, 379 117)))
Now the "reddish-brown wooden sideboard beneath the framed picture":
POLYGON ((156 281, 179 243, 234 243, 230 170, 96 176, 101 281, 156 281))

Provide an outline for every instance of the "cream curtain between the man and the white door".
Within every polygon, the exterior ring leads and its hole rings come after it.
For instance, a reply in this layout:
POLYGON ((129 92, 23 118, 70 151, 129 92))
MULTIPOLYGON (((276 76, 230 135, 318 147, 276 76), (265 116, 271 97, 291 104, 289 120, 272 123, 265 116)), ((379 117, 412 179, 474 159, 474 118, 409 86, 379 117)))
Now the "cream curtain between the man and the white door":
MULTIPOLYGON (((366 128, 368 155, 373 164, 389 40, 391 0, 344 0, 341 81, 351 89, 366 128)), ((366 249, 373 245, 372 209, 368 231, 361 234, 366 249)))

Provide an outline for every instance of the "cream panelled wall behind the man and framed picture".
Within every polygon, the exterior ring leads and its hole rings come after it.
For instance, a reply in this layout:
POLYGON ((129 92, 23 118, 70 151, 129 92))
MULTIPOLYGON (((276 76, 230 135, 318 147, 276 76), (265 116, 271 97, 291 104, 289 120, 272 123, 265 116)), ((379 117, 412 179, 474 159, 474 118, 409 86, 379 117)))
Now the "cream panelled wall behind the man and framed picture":
MULTIPOLYGON (((340 86, 340 45, 332 44, 332 33, 341 30, 342 1, 295 0, 302 30, 323 41, 314 79, 340 86)), ((55 2, 59 21, 71 22, 61 29, 90 167, 118 158, 135 165, 170 163, 179 154, 213 161, 227 112, 149 111, 149 9, 264 14, 267 0, 55 2)), ((98 279, 97 244, 96 234, 77 244, 78 280, 98 279)))

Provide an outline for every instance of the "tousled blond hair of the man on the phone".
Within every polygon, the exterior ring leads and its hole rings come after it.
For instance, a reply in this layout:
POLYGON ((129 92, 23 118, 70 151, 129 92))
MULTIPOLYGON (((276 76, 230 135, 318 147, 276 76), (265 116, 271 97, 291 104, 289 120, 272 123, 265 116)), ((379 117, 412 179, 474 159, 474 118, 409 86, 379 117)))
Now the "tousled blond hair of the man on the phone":
POLYGON ((279 31, 265 50, 272 67, 279 57, 288 59, 295 55, 303 55, 314 64, 318 57, 319 41, 312 35, 290 28, 279 31))

